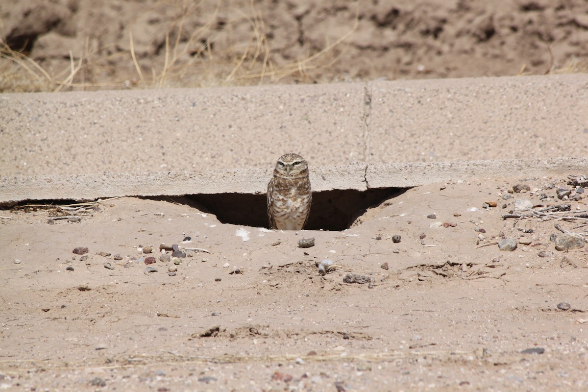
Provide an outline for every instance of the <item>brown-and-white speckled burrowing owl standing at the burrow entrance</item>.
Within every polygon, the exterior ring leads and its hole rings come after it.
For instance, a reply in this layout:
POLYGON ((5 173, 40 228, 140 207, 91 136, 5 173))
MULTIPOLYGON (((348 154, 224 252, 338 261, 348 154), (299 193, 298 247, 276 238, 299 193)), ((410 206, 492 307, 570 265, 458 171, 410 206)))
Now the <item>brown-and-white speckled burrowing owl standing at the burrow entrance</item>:
POLYGON ((311 199, 306 160, 292 153, 280 156, 268 184, 269 226, 302 230, 308 220, 311 199))

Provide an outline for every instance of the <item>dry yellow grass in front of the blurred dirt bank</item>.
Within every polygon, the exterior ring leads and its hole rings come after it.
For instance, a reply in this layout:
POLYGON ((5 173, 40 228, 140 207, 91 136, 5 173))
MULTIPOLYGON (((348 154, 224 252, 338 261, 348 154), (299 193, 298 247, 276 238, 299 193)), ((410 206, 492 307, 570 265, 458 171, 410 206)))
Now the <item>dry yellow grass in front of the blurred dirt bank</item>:
MULTIPOLYGON (((233 12, 236 16, 223 21, 219 31, 220 2, 205 24, 188 28, 191 17, 202 11, 202 1, 161 0, 152 8, 138 15, 128 27, 129 49, 112 52, 114 44, 92 48, 86 41, 83 53, 69 53, 69 64, 58 71, 49 71, 42 61, 35 61, 25 53, 11 49, 0 41, 0 92, 58 92, 71 90, 96 90, 102 88, 167 88, 260 85, 263 83, 313 82, 319 75, 328 73, 338 60, 333 49, 346 39, 358 25, 337 41, 306 58, 286 65, 272 61, 272 48, 268 43, 262 12, 250 3, 249 12, 233 12), (133 26, 149 12, 161 12, 163 7, 175 7, 173 19, 166 31, 163 54, 156 58, 141 56, 136 52, 133 26), (232 26, 249 25, 250 36, 246 45, 242 37, 229 45, 216 45, 216 40, 227 41, 232 26), (216 49, 216 47, 221 49, 216 49), (110 51, 106 49, 111 49, 110 51), (120 57, 125 61, 120 62, 120 57), (113 59, 119 57, 113 70, 113 59), (122 64, 119 66, 118 64, 122 64), (126 72, 124 67, 127 67, 126 72), (106 75, 106 76, 105 76, 106 75), (110 75, 110 76, 109 76, 110 75), (123 75, 122 77, 120 75, 123 75)), ((229 39, 229 41, 231 41, 229 39)), ((223 42, 226 43, 226 42, 223 42)))

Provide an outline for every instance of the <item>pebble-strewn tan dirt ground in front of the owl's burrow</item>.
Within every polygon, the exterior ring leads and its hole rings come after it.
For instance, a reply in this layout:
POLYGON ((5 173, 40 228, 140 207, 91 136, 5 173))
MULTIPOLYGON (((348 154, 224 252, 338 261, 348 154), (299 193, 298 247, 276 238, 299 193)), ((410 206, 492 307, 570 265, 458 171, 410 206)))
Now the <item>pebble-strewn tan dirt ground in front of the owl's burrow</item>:
POLYGON ((415 187, 342 232, 226 225, 131 197, 86 206, 80 222, 4 210, 0 386, 586 390, 588 255, 550 240, 556 225, 588 235, 586 193, 557 198, 568 180, 415 187), (516 185, 529 190, 509 193, 516 185), (519 199, 534 216, 503 219, 519 199), (300 248, 309 237, 315 246, 300 248), (518 240, 513 252, 499 249, 503 237, 518 240), (162 262, 161 243, 187 257, 162 262), (337 267, 321 276, 324 259, 337 267), (344 283, 348 273, 370 282, 344 283))

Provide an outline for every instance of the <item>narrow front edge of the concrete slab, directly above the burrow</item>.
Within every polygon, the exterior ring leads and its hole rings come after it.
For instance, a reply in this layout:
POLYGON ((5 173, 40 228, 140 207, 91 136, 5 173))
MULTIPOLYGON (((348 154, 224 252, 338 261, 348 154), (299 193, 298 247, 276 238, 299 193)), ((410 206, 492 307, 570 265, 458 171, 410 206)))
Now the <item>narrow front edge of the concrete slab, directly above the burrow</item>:
MULTIPOLYGON (((311 172, 314 192, 413 187, 449 180, 588 173, 586 158, 475 160, 322 166, 311 172)), ((115 196, 178 196, 266 192, 270 169, 209 172, 103 173, 0 178, 0 205, 26 200, 95 200, 115 196)))

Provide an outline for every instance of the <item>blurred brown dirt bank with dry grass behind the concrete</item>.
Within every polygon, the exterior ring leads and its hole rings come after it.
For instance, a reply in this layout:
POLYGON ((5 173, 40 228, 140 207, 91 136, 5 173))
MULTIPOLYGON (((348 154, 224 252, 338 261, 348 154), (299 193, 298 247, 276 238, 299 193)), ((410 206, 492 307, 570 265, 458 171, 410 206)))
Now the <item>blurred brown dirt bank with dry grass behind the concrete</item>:
POLYGON ((541 74, 588 55, 582 0, 31 0, 0 21, 3 91, 541 74))

